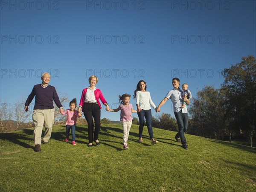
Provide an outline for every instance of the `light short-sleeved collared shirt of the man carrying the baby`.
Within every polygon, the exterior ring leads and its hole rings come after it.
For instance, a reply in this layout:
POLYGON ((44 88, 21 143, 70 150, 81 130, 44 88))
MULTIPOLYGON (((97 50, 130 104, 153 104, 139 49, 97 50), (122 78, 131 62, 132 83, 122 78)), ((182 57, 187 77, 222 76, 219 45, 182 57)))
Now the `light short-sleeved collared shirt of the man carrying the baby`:
POLYGON ((182 110, 182 113, 188 112, 186 105, 185 108, 180 108, 182 105, 182 91, 180 89, 173 88, 166 94, 165 97, 167 99, 171 99, 175 113, 180 112, 180 110, 182 110))

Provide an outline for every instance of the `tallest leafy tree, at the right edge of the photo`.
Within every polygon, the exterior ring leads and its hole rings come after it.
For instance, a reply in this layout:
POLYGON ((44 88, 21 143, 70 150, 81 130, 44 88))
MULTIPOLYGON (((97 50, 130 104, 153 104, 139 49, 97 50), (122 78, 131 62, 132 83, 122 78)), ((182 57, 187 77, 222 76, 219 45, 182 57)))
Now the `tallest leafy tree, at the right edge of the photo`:
POLYGON ((256 127, 256 58, 252 55, 242 57, 240 63, 224 69, 222 75, 230 118, 238 122, 252 147, 256 127))

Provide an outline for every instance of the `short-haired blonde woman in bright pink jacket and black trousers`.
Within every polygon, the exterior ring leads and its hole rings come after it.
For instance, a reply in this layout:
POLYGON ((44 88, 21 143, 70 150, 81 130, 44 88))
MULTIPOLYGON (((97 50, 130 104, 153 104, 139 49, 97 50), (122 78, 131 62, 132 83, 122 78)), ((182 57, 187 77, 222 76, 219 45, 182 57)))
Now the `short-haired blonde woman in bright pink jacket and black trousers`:
POLYGON ((85 119, 88 123, 88 147, 93 145, 93 119, 95 123, 94 141, 96 145, 99 145, 99 129, 100 129, 100 110, 101 105, 99 99, 106 106, 106 110, 109 110, 108 103, 106 102, 101 90, 95 87, 99 79, 96 76, 89 77, 90 86, 82 91, 82 96, 79 103, 78 111, 84 112, 85 119))

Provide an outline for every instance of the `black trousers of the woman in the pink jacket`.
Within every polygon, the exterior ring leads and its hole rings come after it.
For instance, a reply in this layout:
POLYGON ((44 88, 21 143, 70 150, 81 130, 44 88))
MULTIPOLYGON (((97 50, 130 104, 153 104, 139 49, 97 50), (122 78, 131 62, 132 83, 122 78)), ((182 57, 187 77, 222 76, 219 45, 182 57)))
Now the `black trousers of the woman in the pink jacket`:
POLYGON ((96 103, 84 103, 83 112, 88 123, 89 143, 93 143, 93 119, 95 123, 94 140, 99 139, 100 129, 100 108, 96 103))

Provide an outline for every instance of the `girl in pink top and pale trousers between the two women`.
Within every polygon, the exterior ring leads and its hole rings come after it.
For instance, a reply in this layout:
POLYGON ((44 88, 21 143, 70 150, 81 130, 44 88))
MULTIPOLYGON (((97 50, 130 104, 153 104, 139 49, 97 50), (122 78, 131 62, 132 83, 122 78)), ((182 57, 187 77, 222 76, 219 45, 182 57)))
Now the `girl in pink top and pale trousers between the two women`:
POLYGON ((120 98, 119 102, 121 102, 119 107, 117 109, 110 109, 109 111, 117 112, 121 110, 120 121, 122 121, 122 128, 123 128, 123 144, 124 144, 123 149, 126 150, 128 149, 127 140, 129 137, 129 132, 132 124, 131 113, 136 113, 137 111, 133 110, 132 104, 129 103, 131 95, 123 94, 122 96, 119 96, 119 98, 120 98))

